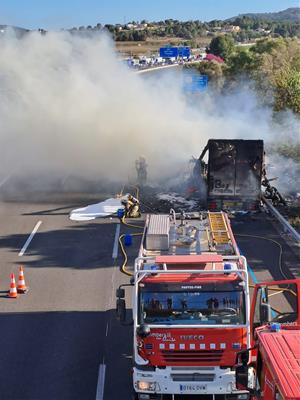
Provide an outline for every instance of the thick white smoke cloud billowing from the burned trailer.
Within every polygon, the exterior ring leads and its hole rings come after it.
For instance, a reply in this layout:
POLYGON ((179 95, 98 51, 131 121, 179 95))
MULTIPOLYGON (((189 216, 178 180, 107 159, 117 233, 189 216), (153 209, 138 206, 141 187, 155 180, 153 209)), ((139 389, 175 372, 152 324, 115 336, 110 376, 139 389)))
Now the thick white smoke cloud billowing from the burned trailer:
POLYGON ((106 36, 31 33, 0 41, 0 170, 127 179, 144 155, 153 180, 208 138, 266 138, 270 114, 249 93, 187 101, 172 75, 154 83, 106 36))

